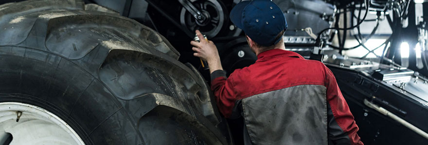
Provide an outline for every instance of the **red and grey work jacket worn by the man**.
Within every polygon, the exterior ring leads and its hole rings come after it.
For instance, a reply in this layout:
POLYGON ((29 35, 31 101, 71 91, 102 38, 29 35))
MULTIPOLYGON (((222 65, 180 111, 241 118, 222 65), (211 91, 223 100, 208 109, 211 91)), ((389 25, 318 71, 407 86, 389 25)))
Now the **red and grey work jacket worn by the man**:
POLYGON ((253 145, 363 145, 333 73, 321 62, 273 49, 249 67, 211 74, 220 112, 244 117, 253 145))

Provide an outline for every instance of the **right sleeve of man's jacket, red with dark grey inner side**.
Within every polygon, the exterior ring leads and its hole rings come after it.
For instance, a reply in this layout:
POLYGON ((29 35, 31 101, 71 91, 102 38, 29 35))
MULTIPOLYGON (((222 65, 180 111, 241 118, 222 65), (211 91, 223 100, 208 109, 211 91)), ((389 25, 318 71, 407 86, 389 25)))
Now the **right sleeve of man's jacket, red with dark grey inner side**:
MULTIPOLYGON (((325 67, 325 66, 324 66, 325 67)), ((328 137, 334 145, 363 145, 357 134, 358 126, 340 92, 333 73, 325 67, 327 87, 328 137)))

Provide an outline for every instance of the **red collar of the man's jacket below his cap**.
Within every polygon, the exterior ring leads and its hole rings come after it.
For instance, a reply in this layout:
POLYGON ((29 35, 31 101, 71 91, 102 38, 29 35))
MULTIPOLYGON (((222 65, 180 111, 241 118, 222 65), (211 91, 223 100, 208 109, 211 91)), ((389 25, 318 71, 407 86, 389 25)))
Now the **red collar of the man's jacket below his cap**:
POLYGON ((269 58, 278 58, 278 57, 298 57, 303 59, 301 55, 292 51, 287 51, 283 49, 271 49, 260 53, 257 56, 256 62, 265 61, 269 58))

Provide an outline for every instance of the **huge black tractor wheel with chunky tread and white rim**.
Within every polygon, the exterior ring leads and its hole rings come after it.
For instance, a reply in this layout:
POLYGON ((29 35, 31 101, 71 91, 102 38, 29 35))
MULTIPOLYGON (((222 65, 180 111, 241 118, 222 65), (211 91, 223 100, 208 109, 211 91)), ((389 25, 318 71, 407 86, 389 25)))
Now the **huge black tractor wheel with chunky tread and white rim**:
POLYGON ((232 144, 178 57, 156 31, 80 0, 0 5, 0 142, 232 144))

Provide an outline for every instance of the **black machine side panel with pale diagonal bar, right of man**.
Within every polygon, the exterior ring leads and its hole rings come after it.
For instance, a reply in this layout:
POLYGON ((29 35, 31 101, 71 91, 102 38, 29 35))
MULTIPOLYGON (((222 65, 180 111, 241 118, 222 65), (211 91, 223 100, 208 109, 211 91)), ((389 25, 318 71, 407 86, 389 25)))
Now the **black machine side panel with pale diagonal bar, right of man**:
MULTIPOLYGON (((428 117, 424 115, 428 113, 428 100, 425 96, 415 97, 411 94, 413 92, 406 92, 406 88, 395 87, 385 81, 374 79, 371 73, 361 71, 370 71, 372 69, 370 67, 351 70, 327 66, 336 76, 340 90, 359 127, 358 135, 365 145, 426 145, 428 142, 426 138, 363 103, 364 99, 372 101, 427 132, 428 117)), ((418 81, 419 83, 415 85, 428 87, 423 81, 422 83, 418 81)))

